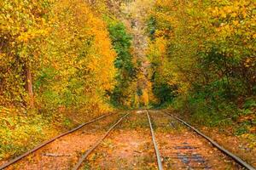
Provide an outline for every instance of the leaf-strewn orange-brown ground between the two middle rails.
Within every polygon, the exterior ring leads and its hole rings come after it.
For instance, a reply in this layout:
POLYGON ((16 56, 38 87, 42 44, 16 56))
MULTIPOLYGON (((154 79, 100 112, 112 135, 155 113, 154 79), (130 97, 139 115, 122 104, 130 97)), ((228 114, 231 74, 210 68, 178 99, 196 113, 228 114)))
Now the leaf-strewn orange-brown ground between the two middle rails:
POLYGON ((156 169, 154 145, 143 111, 132 112, 84 163, 84 169, 156 169))

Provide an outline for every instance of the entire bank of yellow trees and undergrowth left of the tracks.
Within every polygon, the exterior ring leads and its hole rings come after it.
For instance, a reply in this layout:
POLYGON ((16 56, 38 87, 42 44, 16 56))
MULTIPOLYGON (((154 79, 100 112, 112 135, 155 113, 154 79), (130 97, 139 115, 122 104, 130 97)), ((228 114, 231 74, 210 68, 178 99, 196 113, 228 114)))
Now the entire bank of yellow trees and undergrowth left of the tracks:
POLYGON ((117 45, 129 48, 124 26, 105 20, 106 3, 4 0, 0 6, 0 159, 113 111, 109 92, 125 81, 120 70, 130 65, 121 58, 131 56, 117 45))

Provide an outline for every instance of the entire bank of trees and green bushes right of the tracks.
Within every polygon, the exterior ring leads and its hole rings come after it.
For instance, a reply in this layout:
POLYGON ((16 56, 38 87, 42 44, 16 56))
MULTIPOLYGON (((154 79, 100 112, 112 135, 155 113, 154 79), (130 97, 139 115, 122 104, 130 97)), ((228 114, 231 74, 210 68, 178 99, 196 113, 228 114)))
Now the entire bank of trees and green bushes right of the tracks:
MULTIPOLYGON (((190 122, 256 133, 256 3, 157 0, 148 17, 156 105, 190 122)), ((155 105, 155 104, 154 104, 155 105)))

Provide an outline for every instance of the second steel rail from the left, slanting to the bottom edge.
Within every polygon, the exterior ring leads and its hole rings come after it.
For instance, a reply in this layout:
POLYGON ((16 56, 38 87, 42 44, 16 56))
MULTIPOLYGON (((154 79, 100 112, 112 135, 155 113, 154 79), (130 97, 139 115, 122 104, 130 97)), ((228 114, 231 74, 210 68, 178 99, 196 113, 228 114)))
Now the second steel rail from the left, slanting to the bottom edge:
POLYGON ((87 151, 85 152, 84 156, 82 156, 82 157, 79 159, 79 162, 75 165, 75 167, 73 167, 73 170, 78 170, 79 167, 82 165, 83 161, 87 158, 87 156, 89 156, 90 153, 91 153, 93 150, 95 150, 96 147, 97 147, 99 144, 101 144, 104 139, 106 139, 106 137, 108 136, 108 133, 110 133, 110 132, 113 130, 113 128, 116 127, 116 126, 117 126, 126 116, 128 116, 129 114, 130 114, 130 113, 125 114, 125 116, 122 116, 122 117, 119 119, 118 122, 115 122, 115 123, 113 124, 113 126, 110 127, 110 128, 108 129, 108 131, 104 134, 104 136, 102 136, 102 138, 99 139, 99 140, 96 142, 96 144, 94 144, 94 145, 90 148, 90 150, 87 150, 87 151))

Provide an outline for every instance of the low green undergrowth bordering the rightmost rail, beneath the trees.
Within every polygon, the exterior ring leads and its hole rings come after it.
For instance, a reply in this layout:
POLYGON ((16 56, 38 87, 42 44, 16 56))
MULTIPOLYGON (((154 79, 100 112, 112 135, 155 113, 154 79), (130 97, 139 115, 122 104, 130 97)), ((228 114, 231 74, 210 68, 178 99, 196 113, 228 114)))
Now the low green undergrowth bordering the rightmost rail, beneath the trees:
POLYGON ((256 102, 254 98, 229 101, 206 99, 201 96, 179 96, 170 105, 189 121, 207 127, 233 127, 236 135, 256 131, 256 102))

